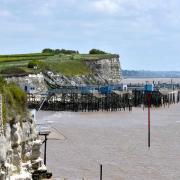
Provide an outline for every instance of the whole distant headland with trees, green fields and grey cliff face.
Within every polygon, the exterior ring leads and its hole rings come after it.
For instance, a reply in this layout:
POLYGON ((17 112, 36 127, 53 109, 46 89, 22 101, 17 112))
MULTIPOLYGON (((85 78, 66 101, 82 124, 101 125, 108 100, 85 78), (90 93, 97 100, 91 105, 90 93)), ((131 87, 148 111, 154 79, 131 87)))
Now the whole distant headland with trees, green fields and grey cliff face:
POLYGON ((41 53, 0 55, 3 76, 39 73, 43 73, 46 80, 61 82, 59 85, 116 84, 122 78, 119 55, 95 49, 88 54, 44 49, 41 53))

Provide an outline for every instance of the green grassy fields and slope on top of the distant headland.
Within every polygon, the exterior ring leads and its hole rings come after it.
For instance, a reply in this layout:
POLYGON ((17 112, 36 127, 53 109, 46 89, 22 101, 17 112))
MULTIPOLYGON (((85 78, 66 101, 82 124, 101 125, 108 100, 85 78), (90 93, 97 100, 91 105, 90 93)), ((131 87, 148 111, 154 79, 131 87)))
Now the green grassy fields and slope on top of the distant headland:
POLYGON ((0 74, 25 75, 51 70, 68 76, 88 75, 86 61, 118 57, 115 54, 53 54, 31 53, 0 55, 0 74), (34 62, 36 68, 28 68, 34 62))

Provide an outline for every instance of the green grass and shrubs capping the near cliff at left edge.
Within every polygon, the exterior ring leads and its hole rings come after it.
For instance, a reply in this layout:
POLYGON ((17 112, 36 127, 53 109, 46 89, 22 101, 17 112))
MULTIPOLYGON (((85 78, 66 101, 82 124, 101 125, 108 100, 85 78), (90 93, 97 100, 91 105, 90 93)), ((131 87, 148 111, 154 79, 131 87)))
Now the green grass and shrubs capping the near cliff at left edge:
POLYGON ((22 120, 27 113, 26 93, 14 83, 7 83, 0 77, 0 94, 3 101, 3 124, 7 120, 15 119, 18 115, 22 120))

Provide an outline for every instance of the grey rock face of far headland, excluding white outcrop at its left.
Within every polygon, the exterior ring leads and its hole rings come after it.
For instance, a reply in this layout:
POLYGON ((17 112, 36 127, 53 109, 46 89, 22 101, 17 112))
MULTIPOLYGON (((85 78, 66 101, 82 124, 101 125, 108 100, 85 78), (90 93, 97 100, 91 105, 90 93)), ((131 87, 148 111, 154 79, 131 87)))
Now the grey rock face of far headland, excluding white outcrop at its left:
POLYGON ((118 55, 113 55, 108 59, 86 60, 86 65, 90 68, 89 75, 64 76, 47 72, 45 80, 53 86, 79 85, 79 84, 118 84, 122 79, 122 71, 118 55))

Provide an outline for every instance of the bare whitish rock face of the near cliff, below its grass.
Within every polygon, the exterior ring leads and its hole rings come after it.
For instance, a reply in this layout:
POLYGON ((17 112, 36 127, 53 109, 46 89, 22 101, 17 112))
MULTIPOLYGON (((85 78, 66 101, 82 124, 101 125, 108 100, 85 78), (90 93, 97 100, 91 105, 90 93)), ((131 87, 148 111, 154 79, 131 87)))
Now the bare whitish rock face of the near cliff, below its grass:
POLYGON ((32 173, 46 170, 40 158, 38 139, 32 117, 20 124, 18 116, 0 132, 0 179, 32 179, 32 173))

